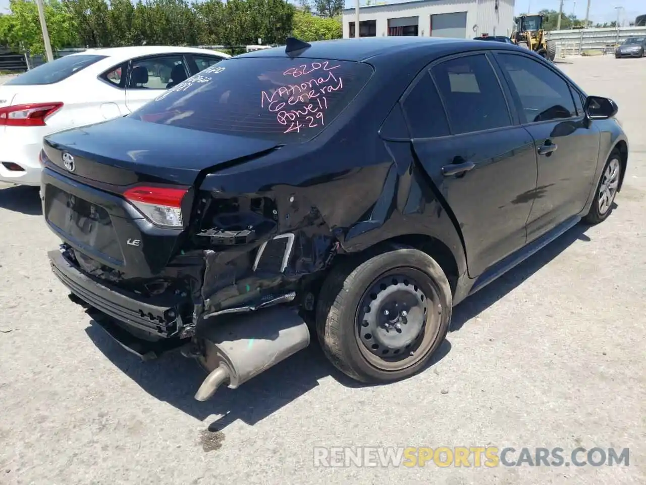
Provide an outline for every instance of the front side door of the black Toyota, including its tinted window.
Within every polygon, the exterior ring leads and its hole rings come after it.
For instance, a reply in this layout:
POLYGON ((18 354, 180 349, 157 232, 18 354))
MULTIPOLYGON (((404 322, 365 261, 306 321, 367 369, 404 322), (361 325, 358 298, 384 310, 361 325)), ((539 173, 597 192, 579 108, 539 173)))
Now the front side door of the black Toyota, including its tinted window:
POLYGON ((583 210, 594 183, 599 130, 556 69, 525 54, 498 52, 496 58, 538 155, 536 200, 527 226, 533 240, 583 210))

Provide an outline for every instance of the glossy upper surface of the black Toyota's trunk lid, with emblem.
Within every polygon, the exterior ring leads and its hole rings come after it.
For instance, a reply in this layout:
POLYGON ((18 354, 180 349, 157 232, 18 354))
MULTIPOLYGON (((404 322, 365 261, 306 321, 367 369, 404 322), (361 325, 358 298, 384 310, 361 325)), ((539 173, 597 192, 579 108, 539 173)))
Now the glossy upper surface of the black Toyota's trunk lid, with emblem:
POLYGON ((84 182, 127 186, 147 180, 192 186, 201 171, 271 151, 276 142, 123 117, 45 137, 52 164, 84 182), (63 163, 74 157, 74 171, 63 163))

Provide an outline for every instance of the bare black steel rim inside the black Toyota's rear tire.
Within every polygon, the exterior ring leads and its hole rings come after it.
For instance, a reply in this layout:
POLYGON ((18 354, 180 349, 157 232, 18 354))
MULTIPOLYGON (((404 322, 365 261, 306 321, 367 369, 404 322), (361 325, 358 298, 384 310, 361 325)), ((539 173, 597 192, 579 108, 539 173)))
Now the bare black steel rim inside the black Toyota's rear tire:
POLYGON ((370 365, 402 371, 428 354, 439 334, 442 310, 438 289, 429 281, 415 268, 395 268, 368 286, 355 316, 355 341, 370 365))

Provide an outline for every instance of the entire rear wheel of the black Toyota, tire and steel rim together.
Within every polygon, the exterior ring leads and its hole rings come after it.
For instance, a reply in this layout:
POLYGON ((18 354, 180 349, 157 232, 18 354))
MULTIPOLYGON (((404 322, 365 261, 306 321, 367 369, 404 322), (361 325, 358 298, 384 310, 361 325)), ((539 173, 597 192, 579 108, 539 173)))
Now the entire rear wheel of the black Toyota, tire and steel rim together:
POLYGON ((392 382, 424 368, 446 337, 452 307, 450 285, 432 257, 386 250, 331 270, 317 303, 318 339, 347 376, 392 382))

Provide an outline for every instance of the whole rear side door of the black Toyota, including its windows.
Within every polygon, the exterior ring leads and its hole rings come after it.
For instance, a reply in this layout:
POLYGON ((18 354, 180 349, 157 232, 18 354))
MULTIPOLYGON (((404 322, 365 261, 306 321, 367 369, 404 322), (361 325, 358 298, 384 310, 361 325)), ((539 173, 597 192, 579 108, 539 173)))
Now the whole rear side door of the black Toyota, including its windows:
POLYGON ((521 248, 536 188, 532 137, 485 53, 431 65, 402 102, 417 158, 462 231, 469 274, 521 248))

